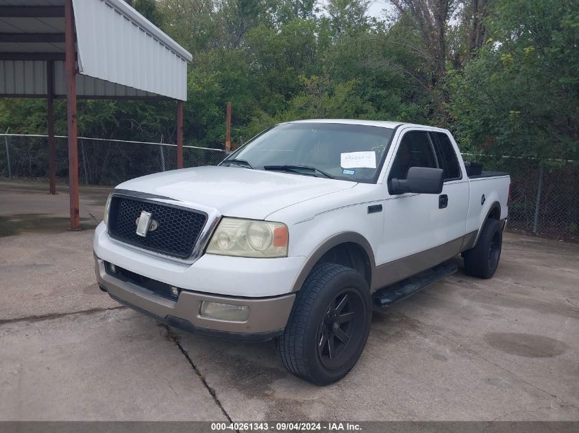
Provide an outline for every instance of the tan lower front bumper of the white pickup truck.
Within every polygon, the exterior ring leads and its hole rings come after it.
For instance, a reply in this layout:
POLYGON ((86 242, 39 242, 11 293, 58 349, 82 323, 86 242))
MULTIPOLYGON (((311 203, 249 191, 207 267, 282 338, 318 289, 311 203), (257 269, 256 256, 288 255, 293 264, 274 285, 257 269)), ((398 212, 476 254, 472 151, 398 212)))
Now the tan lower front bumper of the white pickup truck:
POLYGON ((114 300, 176 328, 228 339, 262 341, 276 337, 283 332, 295 300, 295 293, 271 298, 241 298, 184 290, 175 301, 108 274, 105 261, 96 254, 95 272, 99 287, 114 300), (202 301, 248 306, 249 317, 245 322, 203 317, 200 314, 202 301))

